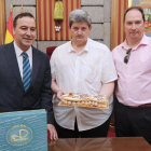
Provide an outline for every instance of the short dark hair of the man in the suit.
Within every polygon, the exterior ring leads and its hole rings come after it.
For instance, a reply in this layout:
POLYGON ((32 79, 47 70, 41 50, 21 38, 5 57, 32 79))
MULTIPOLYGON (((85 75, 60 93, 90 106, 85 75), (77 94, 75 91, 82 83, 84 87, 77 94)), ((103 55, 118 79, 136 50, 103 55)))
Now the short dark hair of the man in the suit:
MULTIPOLYGON (((14 18, 14 22, 13 22, 13 27, 16 28, 16 25, 17 25, 17 19, 18 18, 22 18, 22 17, 31 17, 35 19, 33 15, 29 12, 24 12, 24 13, 20 13, 18 15, 15 16, 14 18)), ((36 20, 36 19, 35 19, 36 20)))

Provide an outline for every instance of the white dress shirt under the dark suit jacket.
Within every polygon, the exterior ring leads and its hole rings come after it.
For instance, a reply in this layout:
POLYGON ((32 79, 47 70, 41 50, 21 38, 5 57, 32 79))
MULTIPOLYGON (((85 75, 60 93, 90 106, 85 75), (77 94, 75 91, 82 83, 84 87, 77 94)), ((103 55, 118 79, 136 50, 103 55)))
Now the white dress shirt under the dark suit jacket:
MULTIPOLYGON (((20 78, 23 80, 23 56, 22 56, 23 51, 16 45, 15 41, 14 41, 14 49, 15 49, 15 53, 16 53, 16 58, 17 58, 17 63, 18 63, 20 78)), ((26 53, 28 55, 30 68, 32 71, 32 47, 30 46, 29 50, 26 51, 26 53)))

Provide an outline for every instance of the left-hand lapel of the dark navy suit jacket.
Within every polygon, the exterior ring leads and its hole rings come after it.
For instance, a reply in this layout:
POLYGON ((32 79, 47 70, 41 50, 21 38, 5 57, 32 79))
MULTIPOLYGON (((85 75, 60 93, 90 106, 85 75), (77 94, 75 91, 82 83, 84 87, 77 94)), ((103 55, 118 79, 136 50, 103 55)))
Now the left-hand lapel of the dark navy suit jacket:
POLYGON ((12 70, 12 73, 14 74, 20 88, 24 91, 24 86, 23 86, 23 82, 22 82, 22 78, 20 78, 20 73, 19 73, 18 63, 17 63, 13 42, 5 45, 5 50, 3 51, 3 53, 5 55, 6 61, 10 66, 10 69, 12 70))

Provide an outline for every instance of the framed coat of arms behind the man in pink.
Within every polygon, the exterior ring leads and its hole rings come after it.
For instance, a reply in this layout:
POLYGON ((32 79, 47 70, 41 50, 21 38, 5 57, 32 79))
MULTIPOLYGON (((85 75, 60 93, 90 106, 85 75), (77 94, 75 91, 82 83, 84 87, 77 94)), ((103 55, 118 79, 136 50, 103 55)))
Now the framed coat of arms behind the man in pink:
POLYGON ((151 37, 151 0, 128 0, 128 6, 141 6, 145 12, 145 33, 151 37))

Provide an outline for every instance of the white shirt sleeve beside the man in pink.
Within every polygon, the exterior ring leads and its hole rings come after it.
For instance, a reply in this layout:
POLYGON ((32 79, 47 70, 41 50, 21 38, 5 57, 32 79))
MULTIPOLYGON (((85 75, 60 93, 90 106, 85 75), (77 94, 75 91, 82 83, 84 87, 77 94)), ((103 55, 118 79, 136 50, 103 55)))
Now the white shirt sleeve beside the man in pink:
POLYGON ((102 60, 101 82, 109 83, 118 79, 112 54, 108 51, 102 60))

